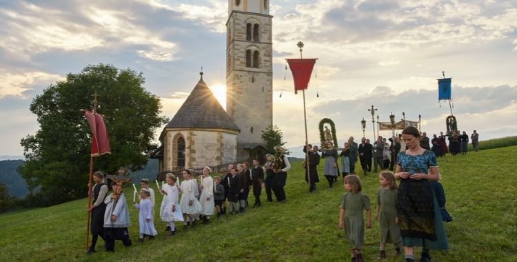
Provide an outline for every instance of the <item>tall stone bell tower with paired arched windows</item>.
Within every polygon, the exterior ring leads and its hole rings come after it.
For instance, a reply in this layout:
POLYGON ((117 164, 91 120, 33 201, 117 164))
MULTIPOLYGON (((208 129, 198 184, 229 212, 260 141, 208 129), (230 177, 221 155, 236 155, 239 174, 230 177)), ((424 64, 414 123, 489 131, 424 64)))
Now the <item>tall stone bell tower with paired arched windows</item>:
POLYGON ((241 157, 257 155, 273 123, 272 18, 268 0, 228 2, 226 111, 241 130, 241 157))

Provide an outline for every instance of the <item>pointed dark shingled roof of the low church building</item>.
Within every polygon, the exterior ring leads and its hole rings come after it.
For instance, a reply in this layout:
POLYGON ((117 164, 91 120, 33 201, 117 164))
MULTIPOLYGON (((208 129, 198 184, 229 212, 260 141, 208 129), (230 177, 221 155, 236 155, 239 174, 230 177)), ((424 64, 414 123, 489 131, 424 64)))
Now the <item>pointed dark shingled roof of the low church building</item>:
POLYGON ((165 128, 224 128, 240 131, 201 79, 165 128))

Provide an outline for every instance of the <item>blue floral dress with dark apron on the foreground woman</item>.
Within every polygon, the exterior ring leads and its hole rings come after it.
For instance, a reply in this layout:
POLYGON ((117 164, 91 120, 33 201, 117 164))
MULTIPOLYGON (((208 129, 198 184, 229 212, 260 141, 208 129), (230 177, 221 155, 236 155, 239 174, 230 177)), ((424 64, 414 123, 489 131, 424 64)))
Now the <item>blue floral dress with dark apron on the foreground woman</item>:
MULTIPOLYGON (((400 152, 397 165, 409 175, 427 174, 429 168, 438 167, 436 156, 430 150, 416 155, 400 152)), ((449 248, 438 201, 427 179, 402 179, 397 199, 398 221, 405 246, 429 250, 449 248)))

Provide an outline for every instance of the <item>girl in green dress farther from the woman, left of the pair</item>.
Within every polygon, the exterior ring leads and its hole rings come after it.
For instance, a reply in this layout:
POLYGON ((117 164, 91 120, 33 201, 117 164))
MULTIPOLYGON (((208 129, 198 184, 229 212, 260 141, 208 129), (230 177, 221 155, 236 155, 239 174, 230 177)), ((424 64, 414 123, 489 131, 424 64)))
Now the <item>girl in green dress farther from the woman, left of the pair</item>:
POLYGON ((348 246, 352 252, 352 262, 362 262, 363 239, 365 236, 365 222, 363 210, 366 210, 366 228, 372 228, 372 211, 369 208, 369 198, 361 192, 361 180, 356 175, 346 176, 345 190, 341 196, 341 210, 339 210, 339 228, 345 228, 348 246))

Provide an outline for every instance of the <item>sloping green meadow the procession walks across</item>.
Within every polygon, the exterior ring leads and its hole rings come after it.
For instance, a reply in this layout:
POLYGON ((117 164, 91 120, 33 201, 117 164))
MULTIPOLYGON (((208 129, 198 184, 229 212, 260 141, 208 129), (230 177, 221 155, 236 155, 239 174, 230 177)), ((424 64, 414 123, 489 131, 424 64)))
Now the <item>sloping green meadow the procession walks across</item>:
MULTIPOLYGON (((432 252, 433 261, 517 261, 514 159, 517 146, 438 159, 454 221, 445 225, 449 251, 432 252)), ((97 254, 85 256, 85 199, 1 214, 0 261, 348 261, 346 239, 337 228, 343 187, 328 189, 322 179, 318 191, 309 194, 301 162, 292 165, 287 203, 265 202, 263 193, 261 208, 180 229, 171 239, 163 238, 164 223, 155 221, 159 237, 136 243, 138 214, 130 205, 134 245, 124 248, 117 241, 114 253, 104 252, 99 239, 97 254)), ((361 179, 363 192, 374 203, 378 178, 361 174, 361 179)), ((128 196, 132 192, 125 191, 128 196)), ((159 194, 156 201, 159 205, 159 194)), ((373 221, 372 229, 365 230, 365 261, 376 260, 378 239, 378 223, 373 221)), ((392 244, 387 250, 387 261, 403 261, 394 258, 392 244)), ((419 252, 417 248, 417 261, 419 252)))

